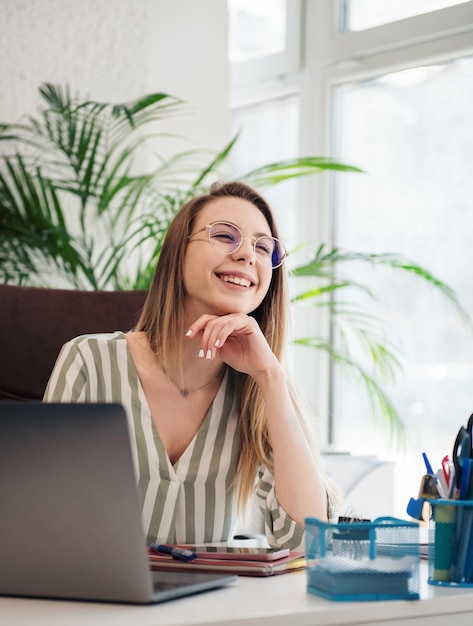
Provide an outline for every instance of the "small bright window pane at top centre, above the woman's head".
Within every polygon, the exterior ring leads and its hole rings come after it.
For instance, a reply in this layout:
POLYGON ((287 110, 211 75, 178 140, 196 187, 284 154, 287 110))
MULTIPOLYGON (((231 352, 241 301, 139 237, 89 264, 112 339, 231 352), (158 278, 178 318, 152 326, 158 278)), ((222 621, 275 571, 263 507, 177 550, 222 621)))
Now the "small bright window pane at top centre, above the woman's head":
POLYGON ((231 63, 284 52, 286 0, 228 0, 228 16, 231 63))

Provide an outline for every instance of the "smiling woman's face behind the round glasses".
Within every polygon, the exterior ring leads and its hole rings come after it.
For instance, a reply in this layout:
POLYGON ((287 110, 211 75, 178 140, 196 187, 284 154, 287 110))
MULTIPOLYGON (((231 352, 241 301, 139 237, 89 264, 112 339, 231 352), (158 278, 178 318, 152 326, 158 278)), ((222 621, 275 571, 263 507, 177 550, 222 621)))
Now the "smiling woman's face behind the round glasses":
POLYGON ((266 218, 251 202, 241 198, 216 198, 197 215, 184 258, 187 313, 197 318, 207 313, 251 313, 261 304, 272 277, 272 268, 256 261, 253 237, 271 236, 266 218), (231 254, 210 245, 213 222, 230 222, 243 233, 241 246, 231 254), (247 237, 246 235, 252 235, 247 237))

